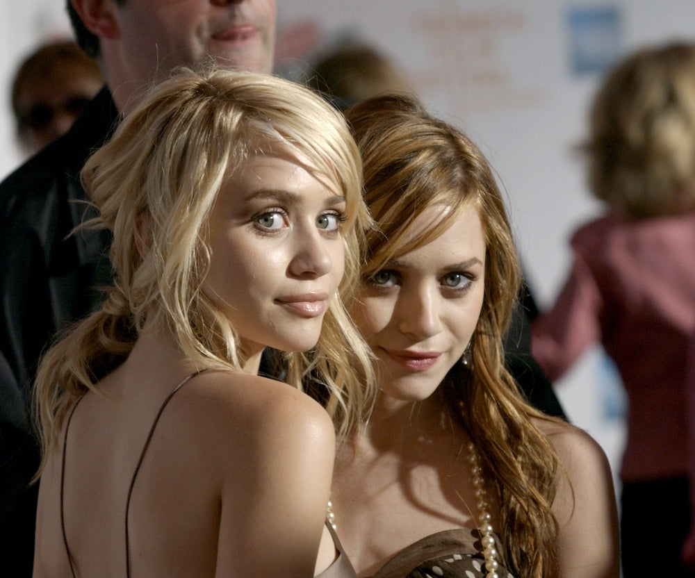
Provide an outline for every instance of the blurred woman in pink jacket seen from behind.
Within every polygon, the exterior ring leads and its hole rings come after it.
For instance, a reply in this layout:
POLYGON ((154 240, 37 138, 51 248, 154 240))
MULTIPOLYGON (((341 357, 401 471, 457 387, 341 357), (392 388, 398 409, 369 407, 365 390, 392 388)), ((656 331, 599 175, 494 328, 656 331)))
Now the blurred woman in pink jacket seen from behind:
POLYGON ((575 231, 565 286, 534 322, 533 354, 558 379, 589 345, 605 347, 628 397, 624 576, 686 576, 695 46, 642 49, 619 63, 594 99, 586 151, 589 187, 607 213, 575 231))

